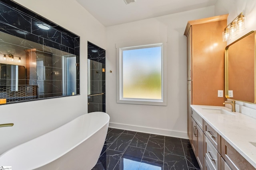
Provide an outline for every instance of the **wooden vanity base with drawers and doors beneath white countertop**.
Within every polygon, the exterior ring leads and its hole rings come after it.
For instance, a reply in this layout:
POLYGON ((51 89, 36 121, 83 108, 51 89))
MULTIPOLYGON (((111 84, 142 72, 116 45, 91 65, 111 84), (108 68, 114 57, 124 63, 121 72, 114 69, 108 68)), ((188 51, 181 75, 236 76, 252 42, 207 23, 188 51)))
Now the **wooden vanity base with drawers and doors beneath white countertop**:
POLYGON ((191 108, 190 144, 201 170, 256 170, 191 108))

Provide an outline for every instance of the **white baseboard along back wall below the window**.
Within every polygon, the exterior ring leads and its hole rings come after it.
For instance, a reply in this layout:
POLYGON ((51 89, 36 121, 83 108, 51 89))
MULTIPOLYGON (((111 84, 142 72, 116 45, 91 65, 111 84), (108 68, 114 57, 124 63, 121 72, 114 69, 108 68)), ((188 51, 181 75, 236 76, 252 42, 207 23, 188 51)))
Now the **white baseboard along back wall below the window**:
POLYGON ((124 129, 124 130, 128 130, 128 131, 137 131, 137 132, 143 132, 143 133, 151 133, 151 134, 156 134, 156 135, 164 135, 164 136, 188 139, 188 135, 186 132, 171 131, 171 130, 167 130, 167 129, 156 129, 156 128, 151 128, 151 127, 126 125, 126 124, 112 123, 112 122, 109 122, 109 127, 115 128, 115 129, 124 129))

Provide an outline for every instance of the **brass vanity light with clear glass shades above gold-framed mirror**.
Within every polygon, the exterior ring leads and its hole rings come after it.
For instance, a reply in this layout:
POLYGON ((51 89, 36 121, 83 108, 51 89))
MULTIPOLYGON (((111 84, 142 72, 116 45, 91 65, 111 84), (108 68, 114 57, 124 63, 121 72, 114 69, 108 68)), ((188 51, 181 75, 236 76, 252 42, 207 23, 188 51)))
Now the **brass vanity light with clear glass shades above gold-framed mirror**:
POLYGON ((246 29, 246 18, 243 13, 240 13, 232 22, 226 26, 224 31, 222 32, 222 40, 228 41, 232 37, 237 35, 237 32, 243 31, 246 29))

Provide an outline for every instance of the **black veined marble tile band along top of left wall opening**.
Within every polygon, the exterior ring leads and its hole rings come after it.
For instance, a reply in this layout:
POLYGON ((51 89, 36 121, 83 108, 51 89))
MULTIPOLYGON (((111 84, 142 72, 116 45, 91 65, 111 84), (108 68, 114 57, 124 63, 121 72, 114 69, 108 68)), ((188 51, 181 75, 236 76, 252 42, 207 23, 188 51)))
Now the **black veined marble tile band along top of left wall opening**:
POLYGON ((80 38, 74 33, 6 0, 0 2, 0 31, 72 54, 80 46, 80 38), (40 29, 38 23, 46 23, 50 29, 40 29))

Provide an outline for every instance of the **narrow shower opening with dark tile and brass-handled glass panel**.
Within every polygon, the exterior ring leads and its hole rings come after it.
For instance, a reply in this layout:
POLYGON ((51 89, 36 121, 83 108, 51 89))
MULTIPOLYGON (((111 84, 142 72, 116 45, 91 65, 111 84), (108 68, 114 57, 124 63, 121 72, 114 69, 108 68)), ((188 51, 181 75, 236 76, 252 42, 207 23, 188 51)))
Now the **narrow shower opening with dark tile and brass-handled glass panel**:
POLYGON ((88 42, 88 113, 106 112, 105 50, 88 42))

